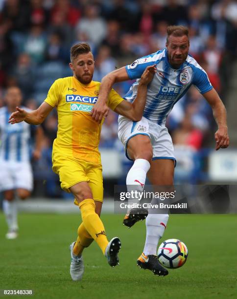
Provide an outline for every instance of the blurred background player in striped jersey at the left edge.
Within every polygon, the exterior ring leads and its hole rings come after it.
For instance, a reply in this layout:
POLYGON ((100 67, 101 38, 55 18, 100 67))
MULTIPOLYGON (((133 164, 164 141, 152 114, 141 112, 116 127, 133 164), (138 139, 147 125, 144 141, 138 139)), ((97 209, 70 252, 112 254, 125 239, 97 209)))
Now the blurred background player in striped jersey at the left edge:
MULTIPOLYGON (((0 191, 3 192, 3 212, 8 232, 6 238, 18 235, 17 201, 27 198, 33 189, 31 170, 31 133, 35 133, 35 148, 32 157, 39 159, 43 130, 40 127, 22 123, 12 127, 8 121, 16 106, 21 107, 22 92, 19 87, 9 87, 5 95, 6 106, 0 108, 0 191)), ((24 108, 26 111, 30 109, 24 108)))

